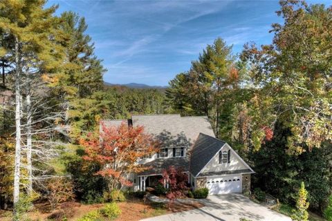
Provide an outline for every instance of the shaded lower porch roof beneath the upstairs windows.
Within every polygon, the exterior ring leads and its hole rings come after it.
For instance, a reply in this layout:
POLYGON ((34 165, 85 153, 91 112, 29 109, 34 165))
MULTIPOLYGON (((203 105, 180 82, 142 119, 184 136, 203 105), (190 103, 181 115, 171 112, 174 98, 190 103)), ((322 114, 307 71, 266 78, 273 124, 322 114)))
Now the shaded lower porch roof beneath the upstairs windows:
POLYGON ((157 158, 154 161, 144 164, 150 166, 150 169, 138 173, 138 175, 151 175, 162 174, 169 166, 175 166, 176 168, 182 168, 183 171, 189 171, 189 160, 187 157, 170 157, 170 158, 157 158))

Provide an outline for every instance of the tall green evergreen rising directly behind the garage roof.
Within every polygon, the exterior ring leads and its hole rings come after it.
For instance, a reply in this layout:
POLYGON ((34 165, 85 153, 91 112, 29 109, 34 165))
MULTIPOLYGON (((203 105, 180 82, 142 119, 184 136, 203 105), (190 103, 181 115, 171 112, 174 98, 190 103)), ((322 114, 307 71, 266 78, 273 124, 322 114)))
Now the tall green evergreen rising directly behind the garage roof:
POLYGON ((234 108, 242 102, 246 72, 235 62, 232 46, 218 38, 208 45, 187 73, 169 81, 166 95, 183 115, 207 115, 217 137, 232 142, 237 116, 234 108))

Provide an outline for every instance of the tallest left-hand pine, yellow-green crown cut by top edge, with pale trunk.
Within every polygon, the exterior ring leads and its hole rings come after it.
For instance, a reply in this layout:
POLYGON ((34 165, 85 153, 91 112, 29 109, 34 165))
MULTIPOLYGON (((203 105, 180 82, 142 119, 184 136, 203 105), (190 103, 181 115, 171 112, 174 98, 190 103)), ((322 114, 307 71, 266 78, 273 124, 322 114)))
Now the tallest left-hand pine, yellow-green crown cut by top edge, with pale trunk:
MULTIPOLYGON (((14 174, 14 207, 19 202, 21 180, 22 151, 22 84, 24 75, 50 73, 62 63, 62 46, 58 44, 58 20, 53 17, 56 7, 44 8, 46 1, 10 1, 0 2, 1 33, 13 39, 12 44, 3 47, 6 56, 12 62, 15 73, 15 174, 14 174)), ((10 42, 9 42, 10 43, 10 42)), ((29 124, 27 124, 29 127, 29 124)), ((28 131, 28 130, 26 130, 28 131)), ((29 136, 29 132, 27 133, 29 136)), ((31 135, 31 134, 30 134, 31 135)), ((30 150, 27 150, 30 152, 30 150)), ((32 173, 30 173, 32 174, 32 173)), ((30 180, 30 179, 29 179, 30 180)), ((29 184, 30 185, 30 184, 29 184)), ((14 210, 16 212, 16 210, 14 210)))

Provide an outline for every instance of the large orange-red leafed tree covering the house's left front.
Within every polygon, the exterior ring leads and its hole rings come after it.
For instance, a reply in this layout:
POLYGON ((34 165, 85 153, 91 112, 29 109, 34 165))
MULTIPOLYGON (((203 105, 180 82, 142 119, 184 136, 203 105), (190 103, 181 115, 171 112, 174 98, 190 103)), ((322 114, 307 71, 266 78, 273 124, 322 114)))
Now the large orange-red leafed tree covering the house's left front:
POLYGON ((124 123, 118 127, 101 124, 99 136, 91 133, 80 144, 85 147, 83 160, 100 164, 101 169, 95 175, 107 179, 110 191, 131 186, 128 175, 148 169, 137 162, 154 153, 158 145, 151 135, 144 133, 142 126, 128 127, 124 123))

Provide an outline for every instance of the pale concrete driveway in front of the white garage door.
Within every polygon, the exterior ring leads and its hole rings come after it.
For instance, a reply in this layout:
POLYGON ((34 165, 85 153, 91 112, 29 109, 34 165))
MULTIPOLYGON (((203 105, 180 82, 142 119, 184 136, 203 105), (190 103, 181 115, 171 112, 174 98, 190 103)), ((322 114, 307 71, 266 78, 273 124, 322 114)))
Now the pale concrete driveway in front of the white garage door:
POLYGON ((291 221, 288 216, 252 202, 240 194, 210 195, 200 202, 205 204, 200 209, 160 215, 145 221, 239 221, 240 218, 252 221, 291 221))

